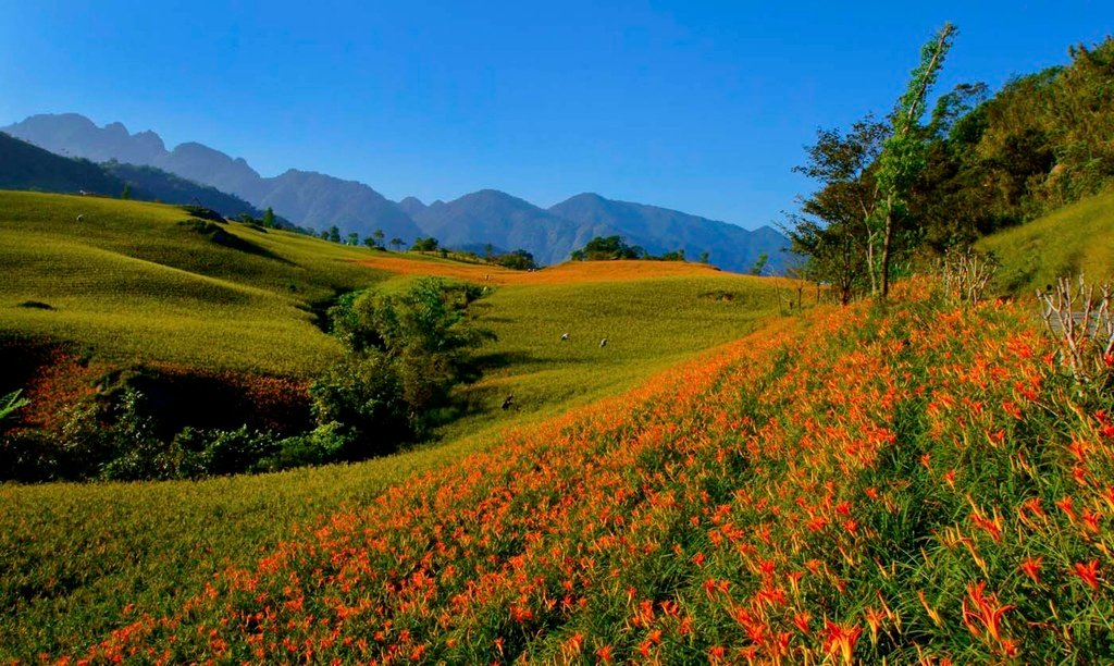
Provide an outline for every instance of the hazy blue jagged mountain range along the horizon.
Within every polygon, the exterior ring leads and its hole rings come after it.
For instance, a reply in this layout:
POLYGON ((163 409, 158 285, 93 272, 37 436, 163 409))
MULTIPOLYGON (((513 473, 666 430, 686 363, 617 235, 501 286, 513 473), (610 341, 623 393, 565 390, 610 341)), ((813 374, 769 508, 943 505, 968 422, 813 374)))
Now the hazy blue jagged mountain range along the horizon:
POLYGON ((162 169, 231 193, 256 208, 271 207, 304 227, 335 225, 362 236, 381 229, 388 239, 404 243, 432 236, 442 246, 472 251, 521 248, 540 264, 565 261, 594 236, 617 235, 651 254, 683 249, 694 259, 707 253, 712 264, 729 271, 750 268, 763 253, 769 271, 785 266, 782 248, 788 241, 769 226, 749 231, 596 194, 580 194, 548 209, 495 189, 430 205, 416 197, 392 202, 363 183, 315 172, 290 169, 263 177, 243 158, 203 144, 184 143, 168 150, 154 131, 131 134, 119 123, 98 127, 78 114, 31 116, 0 131, 62 156, 162 169))

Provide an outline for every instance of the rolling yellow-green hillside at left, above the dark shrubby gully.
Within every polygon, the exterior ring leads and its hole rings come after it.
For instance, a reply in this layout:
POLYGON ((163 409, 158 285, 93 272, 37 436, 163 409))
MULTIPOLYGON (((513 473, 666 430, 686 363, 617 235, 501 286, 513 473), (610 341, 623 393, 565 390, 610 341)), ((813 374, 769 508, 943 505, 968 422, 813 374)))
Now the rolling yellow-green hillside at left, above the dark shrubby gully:
POLYGON ((383 276, 353 262, 365 249, 172 206, 0 193, 0 263, 19 266, 0 329, 111 360, 305 376, 336 351, 309 304, 383 276))

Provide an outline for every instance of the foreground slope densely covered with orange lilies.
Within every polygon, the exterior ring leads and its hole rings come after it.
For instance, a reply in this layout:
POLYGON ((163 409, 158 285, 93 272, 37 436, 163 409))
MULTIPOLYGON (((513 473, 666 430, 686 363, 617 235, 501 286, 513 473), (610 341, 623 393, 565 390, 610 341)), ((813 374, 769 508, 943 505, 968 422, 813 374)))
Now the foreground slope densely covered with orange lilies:
POLYGON ((42 657, 1108 662, 1114 400, 1029 319, 782 320, 42 657))

